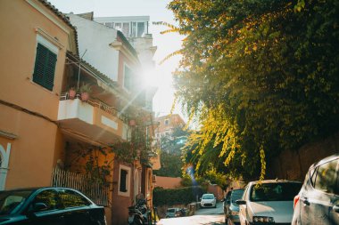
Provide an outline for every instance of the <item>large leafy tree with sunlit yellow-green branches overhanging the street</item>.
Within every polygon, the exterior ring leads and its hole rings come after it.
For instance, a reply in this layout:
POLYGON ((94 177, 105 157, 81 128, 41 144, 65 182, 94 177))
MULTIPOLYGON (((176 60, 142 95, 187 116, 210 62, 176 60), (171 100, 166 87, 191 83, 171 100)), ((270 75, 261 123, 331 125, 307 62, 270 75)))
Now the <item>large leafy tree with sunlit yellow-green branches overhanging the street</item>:
POLYGON ((338 131, 336 0, 173 0, 178 99, 201 129, 186 163, 263 179, 266 161, 338 131))

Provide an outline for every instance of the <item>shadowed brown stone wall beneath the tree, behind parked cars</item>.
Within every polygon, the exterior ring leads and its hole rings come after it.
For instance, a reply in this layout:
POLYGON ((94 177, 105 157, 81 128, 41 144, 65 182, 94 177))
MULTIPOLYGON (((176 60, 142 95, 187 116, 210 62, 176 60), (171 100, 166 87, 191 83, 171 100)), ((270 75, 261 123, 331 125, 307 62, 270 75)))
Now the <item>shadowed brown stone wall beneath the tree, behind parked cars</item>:
POLYGON ((339 133, 302 146, 297 151, 286 150, 267 167, 270 178, 303 181, 310 165, 339 153, 339 133))

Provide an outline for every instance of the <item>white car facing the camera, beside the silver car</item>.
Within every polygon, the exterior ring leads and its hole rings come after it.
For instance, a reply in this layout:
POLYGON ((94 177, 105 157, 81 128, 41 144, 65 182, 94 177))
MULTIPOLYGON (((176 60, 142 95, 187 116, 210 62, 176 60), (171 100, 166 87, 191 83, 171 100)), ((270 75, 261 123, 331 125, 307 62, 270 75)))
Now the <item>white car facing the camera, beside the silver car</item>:
POLYGON ((247 224, 290 224, 294 213, 294 196, 302 188, 302 182, 269 180, 249 182, 244 190, 239 219, 247 224))

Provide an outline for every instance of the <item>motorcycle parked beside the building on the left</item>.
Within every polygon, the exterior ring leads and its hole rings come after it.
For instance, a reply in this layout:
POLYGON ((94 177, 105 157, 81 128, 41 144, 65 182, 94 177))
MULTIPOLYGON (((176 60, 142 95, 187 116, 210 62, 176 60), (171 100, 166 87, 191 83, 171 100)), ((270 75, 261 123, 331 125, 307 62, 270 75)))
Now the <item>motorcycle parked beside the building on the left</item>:
POLYGON ((139 199, 136 205, 128 207, 128 225, 148 225, 149 210, 145 199, 139 199))

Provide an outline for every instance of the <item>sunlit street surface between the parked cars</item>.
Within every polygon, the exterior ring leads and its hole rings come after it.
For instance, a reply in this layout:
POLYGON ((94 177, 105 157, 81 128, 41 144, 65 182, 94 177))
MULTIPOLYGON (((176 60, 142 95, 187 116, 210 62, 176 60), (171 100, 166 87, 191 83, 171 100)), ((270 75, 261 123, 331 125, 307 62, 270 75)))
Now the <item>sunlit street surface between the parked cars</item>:
POLYGON ((198 209, 194 216, 161 219, 158 225, 220 225, 225 224, 222 203, 217 208, 198 209))

